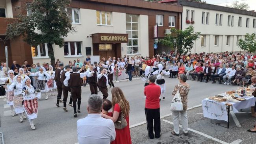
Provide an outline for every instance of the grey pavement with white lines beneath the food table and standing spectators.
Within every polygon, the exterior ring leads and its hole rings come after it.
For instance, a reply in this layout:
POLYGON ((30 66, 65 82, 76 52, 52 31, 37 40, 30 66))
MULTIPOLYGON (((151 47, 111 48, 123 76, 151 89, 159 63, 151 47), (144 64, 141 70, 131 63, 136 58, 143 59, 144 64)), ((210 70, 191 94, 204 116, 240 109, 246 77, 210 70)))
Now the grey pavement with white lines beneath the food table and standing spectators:
MULTIPOLYGON (((246 109, 243 111, 250 111, 246 109)), ((250 113, 237 113, 241 127, 237 127, 230 115, 230 128, 217 126, 210 123, 209 118, 204 118, 202 107, 191 109, 188 112, 189 134, 185 136, 180 129, 180 136, 171 134, 173 129, 172 116, 161 119, 161 137, 153 140, 148 138, 147 125, 143 124, 130 129, 133 144, 254 144, 255 133, 247 129, 255 125, 255 118, 250 113)), ((226 122, 213 120, 213 122, 226 126, 226 122)))

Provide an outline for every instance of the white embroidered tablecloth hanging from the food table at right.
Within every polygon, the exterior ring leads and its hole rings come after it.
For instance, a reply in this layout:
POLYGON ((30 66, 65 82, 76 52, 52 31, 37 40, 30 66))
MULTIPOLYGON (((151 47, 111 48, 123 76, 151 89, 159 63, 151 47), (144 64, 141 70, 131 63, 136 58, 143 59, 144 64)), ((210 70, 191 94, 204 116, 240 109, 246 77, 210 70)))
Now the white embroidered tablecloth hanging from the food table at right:
POLYGON ((208 98, 202 100, 202 109, 204 117, 225 120, 228 121, 228 113, 226 111, 226 103, 232 104, 231 108, 234 113, 237 113, 240 109, 246 109, 248 107, 253 107, 256 101, 256 97, 241 97, 245 98, 245 101, 239 102, 216 102, 214 100, 209 100, 208 98))

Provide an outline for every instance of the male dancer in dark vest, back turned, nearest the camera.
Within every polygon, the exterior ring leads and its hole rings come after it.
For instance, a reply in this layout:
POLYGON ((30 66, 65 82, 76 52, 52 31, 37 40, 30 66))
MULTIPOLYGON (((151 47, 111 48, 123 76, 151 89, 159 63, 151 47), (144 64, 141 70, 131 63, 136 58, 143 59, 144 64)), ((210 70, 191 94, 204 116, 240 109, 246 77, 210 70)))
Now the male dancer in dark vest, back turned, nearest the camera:
MULTIPOLYGON (((80 73, 76 72, 77 68, 76 66, 73 66, 73 73, 66 72, 65 76, 66 78, 63 81, 63 84, 65 87, 71 88, 71 96, 72 96, 72 101, 73 101, 73 108, 74 108, 74 117, 77 117, 76 113, 76 101, 77 101, 77 112, 80 112, 80 105, 81 105, 81 93, 82 89, 81 87, 83 86, 83 81, 81 78, 84 78, 87 76, 87 72, 80 73)), ((80 69, 82 71, 82 69, 80 69)), ((64 92, 63 92, 64 93, 64 92)), ((64 101, 63 101, 64 103, 64 101)), ((65 110, 65 109, 64 109, 65 110)))

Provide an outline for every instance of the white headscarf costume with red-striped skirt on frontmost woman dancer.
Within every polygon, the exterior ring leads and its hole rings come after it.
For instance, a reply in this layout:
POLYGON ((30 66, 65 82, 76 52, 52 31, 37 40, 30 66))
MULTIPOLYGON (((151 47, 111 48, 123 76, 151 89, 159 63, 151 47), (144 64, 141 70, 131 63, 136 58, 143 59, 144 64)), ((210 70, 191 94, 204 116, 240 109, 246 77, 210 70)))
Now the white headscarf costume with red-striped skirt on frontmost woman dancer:
POLYGON ((38 112, 38 102, 35 98, 41 97, 41 92, 37 93, 35 92, 35 89, 32 85, 28 86, 26 85, 26 81, 30 78, 26 78, 23 80, 23 83, 25 84, 22 89, 22 95, 23 95, 23 106, 24 110, 28 116, 28 121, 30 122, 30 127, 34 130, 35 124, 33 120, 37 118, 37 112, 38 112), (25 91, 28 91, 28 93, 25 93, 25 91))

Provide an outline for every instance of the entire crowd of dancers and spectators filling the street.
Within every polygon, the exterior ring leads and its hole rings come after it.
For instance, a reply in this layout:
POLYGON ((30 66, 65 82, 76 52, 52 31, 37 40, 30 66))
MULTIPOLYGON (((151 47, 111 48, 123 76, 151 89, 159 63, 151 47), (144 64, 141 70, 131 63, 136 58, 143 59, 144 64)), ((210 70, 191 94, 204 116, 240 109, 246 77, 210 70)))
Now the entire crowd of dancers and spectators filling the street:
POLYGON ((129 102, 122 90, 113 83, 113 78, 115 82, 119 82, 121 70, 125 70, 128 74, 128 81, 132 81, 134 77, 141 77, 145 81, 148 136, 153 139, 161 136, 160 102, 161 98, 165 99, 165 75, 179 79, 180 84, 174 87, 173 96, 179 91, 183 103, 183 111, 173 112, 172 134, 179 135, 178 120, 181 116, 183 131, 187 135, 186 109, 189 85, 186 81, 189 76, 192 80, 197 79, 206 83, 210 80, 216 83, 218 80, 219 84, 224 81, 224 85, 249 85, 253 82, 251 78, 256 76, 255 58, 256 56, 250 53, 174 54, 163 51, 153 57, 136 55, 107 59, 103 57, 99 62, 91 62, 90 57, 87 57, 83 63, 80 59, 76 59, 73 62, 69 61, 65 66, 57 59, 54 67, 48 63, 42 66, 39 63, 29 65, 28 61, 24 61, 20 66, 13 61, 11 68, 7 68, 6 63, 1 63, 0 95, 6 95, 12 116, 19 114, 20 122, 28 117, 30 127, 35 129, 33 120, 37 118, 37 99, 41 99, 42 94, 45 94, 47 100, 48 96, 55 96, 57 90, 56 106, 59 107, 59 104, 63 103, 63 110, 67 112, 67 99, 70 93, 68 105, 73 107, 74 117, 77 117, 78 113, 81 113, 81 87, 89 86, 91 91, 87 105, 89 114, 77 122, 80 144, 96 139, 100 143, 111 141, 111 144, 129 144, 131 143, 129 102), (111 87, 113 87, 112 100, 109 101, 108 89, 111 87), (98 91, 102 92, 103 97, 98 96, 98 91), (113 111, 109 112, 112 107, 113 111), (106 129, 103 131, 102 127, 97 127, 99 124, 106 129), (91 129, 91 131, 85 132, 83 129, 91 129))

